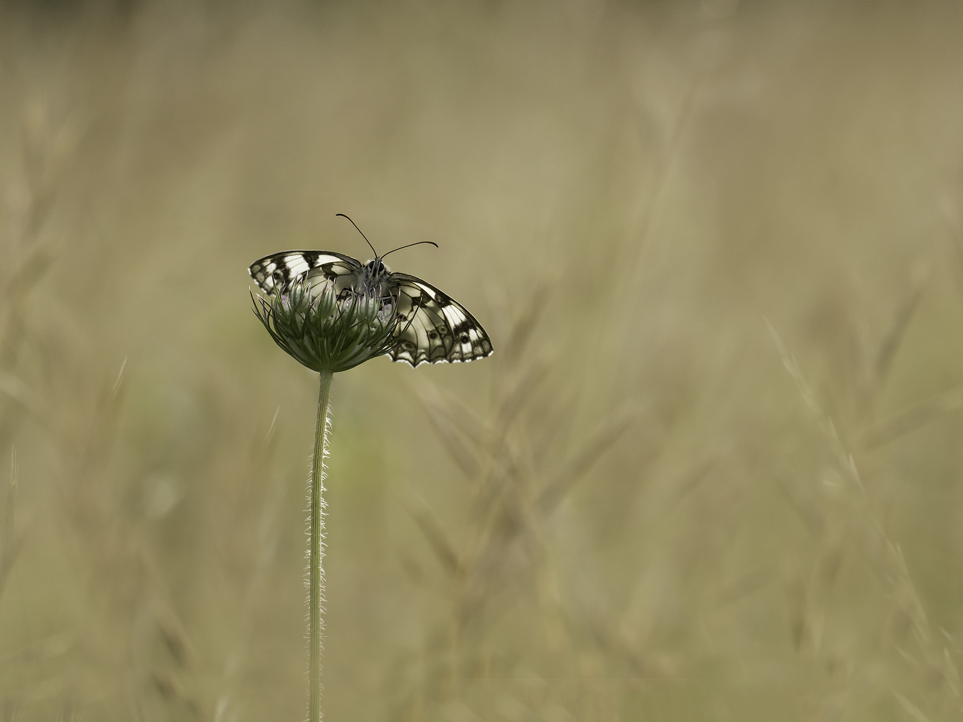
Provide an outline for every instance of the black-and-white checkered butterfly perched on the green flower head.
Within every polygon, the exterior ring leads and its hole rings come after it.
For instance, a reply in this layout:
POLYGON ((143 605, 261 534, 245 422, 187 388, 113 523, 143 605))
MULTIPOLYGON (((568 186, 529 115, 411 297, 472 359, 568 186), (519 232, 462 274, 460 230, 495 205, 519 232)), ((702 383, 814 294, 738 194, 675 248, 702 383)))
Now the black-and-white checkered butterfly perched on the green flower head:
POLYGON ((394 299, 399 327, 394 346, 386 354, 392 361, 418 367, 491 355, 488 334, 464 306, 421 278, 391 272, 381 261, 384 256, 376 251, 374 261, 362 264, 330 250, 285 250, 255 261, 247 272, 268 295, 273 295, 275 287, 283 290, 304 277, 309 283, 315 278, 318 283, 333 283, 339 294, 353 291, 394 299))

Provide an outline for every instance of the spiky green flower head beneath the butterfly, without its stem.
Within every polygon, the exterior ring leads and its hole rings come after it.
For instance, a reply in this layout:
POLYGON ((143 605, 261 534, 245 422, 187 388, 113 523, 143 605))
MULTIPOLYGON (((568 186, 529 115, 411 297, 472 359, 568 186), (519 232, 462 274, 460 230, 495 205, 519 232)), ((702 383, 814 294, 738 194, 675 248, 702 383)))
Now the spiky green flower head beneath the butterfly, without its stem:
POLYGON ((394 298, 378 290, 339 294, 332 282, 305 276, 275 286, 270 299, 254 298, 254 314, 289 355, 312 371, 332 374, 387 353, 398 325, 394 298))

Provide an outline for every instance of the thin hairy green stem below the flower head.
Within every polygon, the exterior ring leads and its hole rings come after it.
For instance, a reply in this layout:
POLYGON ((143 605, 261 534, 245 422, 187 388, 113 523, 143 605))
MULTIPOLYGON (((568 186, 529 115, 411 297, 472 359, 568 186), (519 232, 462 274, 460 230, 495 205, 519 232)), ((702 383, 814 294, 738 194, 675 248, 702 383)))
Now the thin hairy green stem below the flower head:
POLYGON ((308 722, 321 722, 321 652, 325 631, 325 477, 327 467, 328 415, 333 372, 321 372, 321 391, 318 395, 318 421, 314 429, 314 455, 311 461, 311 486, 308 502, 311 505, 311 545, 308 568, 308 722))

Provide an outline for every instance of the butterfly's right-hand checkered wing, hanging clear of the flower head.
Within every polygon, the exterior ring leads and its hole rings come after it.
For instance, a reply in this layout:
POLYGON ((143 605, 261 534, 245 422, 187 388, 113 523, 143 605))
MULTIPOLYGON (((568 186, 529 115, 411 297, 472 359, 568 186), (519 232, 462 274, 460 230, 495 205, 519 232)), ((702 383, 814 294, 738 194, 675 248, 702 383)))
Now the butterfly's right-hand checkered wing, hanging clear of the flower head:
POLYGON ((401 319, 397 343, 387 354, 392 361, 417 367, 491 355, 481 323, 454 298, 407 273, 391 273, 388 286, 398 297, 401 319))

